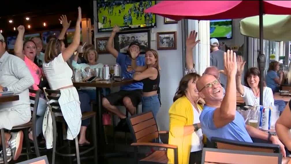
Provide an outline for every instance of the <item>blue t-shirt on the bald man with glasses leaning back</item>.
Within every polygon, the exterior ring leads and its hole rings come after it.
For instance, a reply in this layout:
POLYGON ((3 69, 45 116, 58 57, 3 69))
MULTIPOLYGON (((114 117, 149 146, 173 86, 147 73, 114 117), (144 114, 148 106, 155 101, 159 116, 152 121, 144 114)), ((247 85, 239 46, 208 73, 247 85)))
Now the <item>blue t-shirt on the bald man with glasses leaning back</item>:
POLYGON ((204 105, 199 117, 203 134, 206 135, 208 140, 211 140, 211 137, 220 137, 236 141, 253 142, 249 133, 246 131, 244 118, 237 111, 235 119, 232 122, 222 128, 216 128, 213 122, 215 109, 216 107, 204 105))

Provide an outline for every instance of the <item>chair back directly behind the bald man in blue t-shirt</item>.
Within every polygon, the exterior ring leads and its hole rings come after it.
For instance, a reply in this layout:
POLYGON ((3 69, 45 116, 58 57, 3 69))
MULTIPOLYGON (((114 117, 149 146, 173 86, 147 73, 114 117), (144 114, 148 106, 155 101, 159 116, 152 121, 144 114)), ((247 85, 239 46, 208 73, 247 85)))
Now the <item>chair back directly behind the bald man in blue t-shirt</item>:
POLYGON ((276 144, 242 142, 219 137, 212 137, 211 142, 217 149, 280 153, 280 146, 276 144))

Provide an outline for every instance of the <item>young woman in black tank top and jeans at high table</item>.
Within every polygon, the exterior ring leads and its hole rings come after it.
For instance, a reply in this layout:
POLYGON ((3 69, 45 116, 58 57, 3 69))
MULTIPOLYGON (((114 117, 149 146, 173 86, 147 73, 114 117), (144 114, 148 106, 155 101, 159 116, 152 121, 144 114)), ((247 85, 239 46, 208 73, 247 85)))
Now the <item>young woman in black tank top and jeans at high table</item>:
POLYGON ((145 66, 137 66, 136 58, 139 55, 139 51, 131 50, 130 55, 132 57, 132 69, 136 71, 134 74, 134 80, 143 82, 143 112, 152 111, 154 117, 160 109, 159 99, 159 56, 156 50, 148 50, 145 52, 145 66))

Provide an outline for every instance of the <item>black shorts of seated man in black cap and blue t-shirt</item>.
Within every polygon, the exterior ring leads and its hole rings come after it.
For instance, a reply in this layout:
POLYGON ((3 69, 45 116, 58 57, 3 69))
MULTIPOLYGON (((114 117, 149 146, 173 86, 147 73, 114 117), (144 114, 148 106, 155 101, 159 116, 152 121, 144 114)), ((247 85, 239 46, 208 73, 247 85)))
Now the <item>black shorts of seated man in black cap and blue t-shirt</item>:
POLYGON ((120 90, 118 92, 115 92, 113 94, 109 94, 105 98, 109 101, 111 105, 117 105, 117 104, 123 104, 123 98, 129 97, 132 104, 137 107, 139 103, 141 102, 141 98, 143 96, 143 90, 142 89, 136 89, 132 91, 125 91, 120 90))

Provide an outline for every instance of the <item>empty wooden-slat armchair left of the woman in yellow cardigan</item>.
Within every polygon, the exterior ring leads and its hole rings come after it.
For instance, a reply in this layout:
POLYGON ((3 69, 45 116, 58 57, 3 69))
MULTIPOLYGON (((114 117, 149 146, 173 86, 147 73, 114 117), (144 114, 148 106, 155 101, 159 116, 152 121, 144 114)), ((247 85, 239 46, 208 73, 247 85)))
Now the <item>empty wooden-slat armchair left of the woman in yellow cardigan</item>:
POLYGON ((129 129, 132 133, 134 143, 136 163, 167 163, 167 151, 157 150, 145 158, 138 160, 137 147, 159 147, 174 150, 174 164, 178 164, 178 146, 169 144, 154 143, 153 140, 159 139, 159 134, 168 133, 168 131, 158 131, 156 120, 152 112, 141 113, 133 117, 127 118, 129 129))

